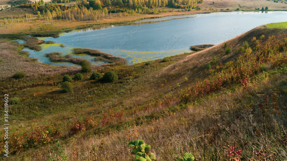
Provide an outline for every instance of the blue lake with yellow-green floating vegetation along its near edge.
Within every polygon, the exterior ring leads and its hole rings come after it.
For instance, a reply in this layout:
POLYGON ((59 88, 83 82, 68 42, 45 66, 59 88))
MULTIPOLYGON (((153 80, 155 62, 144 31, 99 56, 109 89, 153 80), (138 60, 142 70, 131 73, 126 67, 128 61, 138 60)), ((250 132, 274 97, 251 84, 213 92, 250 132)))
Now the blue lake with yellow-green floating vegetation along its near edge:
MULTIPOLYGON (((58 38, 42 38, 45 41, 64 44, 66 48, 60 48, 59 44, 43 44, 43 50, 39 52, 26 48, 24 50, 30 52, 30 57, 38 58, 38 61, 43 63, 51 63, 48 58, 44 58, 44 54, 48 52, 68 54, 71 48, 91 48, 122 56, 127 58, 128 64, 135 64, 190 52, 189 46, 192 45, 219 44, 259 25, 287 21, 286 15, 286 11, 240 11, 144 19, 134 22, 133 25, 110 25, 101 29, 89 28, 63 33, 58 38)), ((90 61, 94 58, 88 55, 77 57, 90 61)), ((104 62, 92 62, 102 63, 104 62)), ((51 64, 73 65, 67 62, 51 64)))

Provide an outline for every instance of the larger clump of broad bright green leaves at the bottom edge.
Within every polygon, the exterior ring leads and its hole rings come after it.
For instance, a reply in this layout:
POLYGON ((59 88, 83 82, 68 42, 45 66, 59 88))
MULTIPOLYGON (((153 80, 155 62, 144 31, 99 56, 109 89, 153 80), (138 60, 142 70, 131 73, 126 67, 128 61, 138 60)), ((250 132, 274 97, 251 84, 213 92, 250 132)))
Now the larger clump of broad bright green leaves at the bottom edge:
POLYGON ((135 155, 136 161, 151 161, 156 160, 153 153, 150 153, 150 145, 145 144, 144 140, 135 140, 129 142, 129 147, 133 147, 131 154, 135 155))

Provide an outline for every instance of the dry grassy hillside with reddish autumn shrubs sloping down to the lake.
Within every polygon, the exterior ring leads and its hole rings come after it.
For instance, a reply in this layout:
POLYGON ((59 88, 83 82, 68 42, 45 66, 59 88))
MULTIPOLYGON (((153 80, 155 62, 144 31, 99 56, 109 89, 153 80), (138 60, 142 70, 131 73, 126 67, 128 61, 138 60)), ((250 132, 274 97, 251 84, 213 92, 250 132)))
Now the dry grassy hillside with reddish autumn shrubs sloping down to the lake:
POLYGON ((260 26, 170 61, 92 68, 119 79, 104 83, 90 80, 92 71, 81 73, 68 93, 61 91, 63 75, 73 78, 80 68, 41 66, 50 73, 11 78, 19 70, 12 66, 41 64, 1 39, 0 65, 10 72, 1 78, 1 95, 20 99, 9 109, 8 160, 134 160, 128 143, 137 139, 157 160, 185 152, 196 160, 284 160, 286 32, 260 26))

